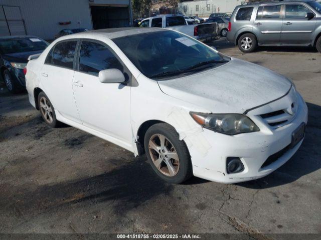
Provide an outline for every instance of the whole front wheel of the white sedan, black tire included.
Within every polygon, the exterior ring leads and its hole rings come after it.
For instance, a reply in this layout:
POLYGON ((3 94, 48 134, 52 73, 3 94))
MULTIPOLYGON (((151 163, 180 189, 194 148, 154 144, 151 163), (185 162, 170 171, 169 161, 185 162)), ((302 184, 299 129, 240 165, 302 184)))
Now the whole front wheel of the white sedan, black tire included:
POLYGON ((173 126, 167 123, 150 126, 144 136, 144 148, 152 169, 163 180, 179 184, 193 175, 188 148, 173 126))

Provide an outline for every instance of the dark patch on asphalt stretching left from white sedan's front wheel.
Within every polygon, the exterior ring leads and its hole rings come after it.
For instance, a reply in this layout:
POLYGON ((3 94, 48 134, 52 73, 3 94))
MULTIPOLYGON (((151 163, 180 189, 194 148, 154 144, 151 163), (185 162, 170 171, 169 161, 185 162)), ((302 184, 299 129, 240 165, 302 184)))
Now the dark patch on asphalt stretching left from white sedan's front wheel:
POLYGON ((102 174, 46 184, 35 190, 18 189, 15 198, 24 199, 16 203, 24 213, 109 201, 115 212, 122 215, 155 196, 170 194, 173 187, 156 177, 146 157, 137 157, 102 174))

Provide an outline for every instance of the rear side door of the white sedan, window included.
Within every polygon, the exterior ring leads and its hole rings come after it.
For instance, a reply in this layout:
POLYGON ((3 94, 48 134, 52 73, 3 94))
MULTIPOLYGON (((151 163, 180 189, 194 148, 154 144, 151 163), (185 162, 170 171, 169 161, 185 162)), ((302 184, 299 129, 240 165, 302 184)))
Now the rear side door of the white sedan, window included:
POLYGON ((76 46, 77 40, 63 40, 51 49, 41 69, 41 82, 55 109, 81 123, 72 89, 76 46))

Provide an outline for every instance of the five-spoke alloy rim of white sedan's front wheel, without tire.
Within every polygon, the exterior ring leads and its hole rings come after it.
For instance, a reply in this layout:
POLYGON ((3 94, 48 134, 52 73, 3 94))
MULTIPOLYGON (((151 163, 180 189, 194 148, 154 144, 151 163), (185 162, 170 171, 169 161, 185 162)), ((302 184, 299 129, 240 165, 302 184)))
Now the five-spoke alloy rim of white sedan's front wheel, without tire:
POLYGON ((148 142, 148 150, 156 168, 167 176, 175 176, 180 169, 179 155, 172 142, 163 134, 154 134, 148 142))

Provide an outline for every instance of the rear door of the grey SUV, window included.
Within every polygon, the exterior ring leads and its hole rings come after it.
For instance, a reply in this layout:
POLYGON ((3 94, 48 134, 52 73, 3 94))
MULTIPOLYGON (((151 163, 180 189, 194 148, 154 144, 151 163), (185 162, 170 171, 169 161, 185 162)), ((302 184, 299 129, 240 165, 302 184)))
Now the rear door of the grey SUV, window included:
POLYGON ((259 44, 279 44, 281 29, 281 4, 259 6, 253 23, 259 44))

